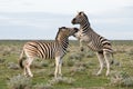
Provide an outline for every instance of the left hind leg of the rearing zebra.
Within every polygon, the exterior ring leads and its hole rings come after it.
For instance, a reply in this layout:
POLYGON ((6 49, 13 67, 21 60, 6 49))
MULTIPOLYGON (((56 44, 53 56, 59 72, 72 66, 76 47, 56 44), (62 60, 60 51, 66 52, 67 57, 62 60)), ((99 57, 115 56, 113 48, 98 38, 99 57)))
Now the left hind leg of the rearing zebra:
POLYGON ((104 66, 104 62, 103 62, 103 53, 101 52, 96 52, 96 56, 98 56, 98 59, 99 59, 99 62, 100 62, 100 70, 98 71, 96 76, 101 75, 102 70, 103 70, 103 66, 104 66))

